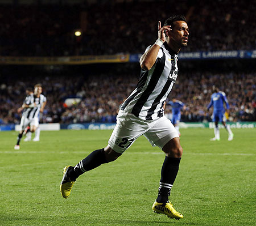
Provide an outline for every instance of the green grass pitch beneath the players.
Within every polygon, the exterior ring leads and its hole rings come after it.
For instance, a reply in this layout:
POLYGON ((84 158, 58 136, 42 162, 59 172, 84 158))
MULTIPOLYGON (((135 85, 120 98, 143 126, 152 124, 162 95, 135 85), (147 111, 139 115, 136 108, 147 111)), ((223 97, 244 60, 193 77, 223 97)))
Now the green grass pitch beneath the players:
POLYGON ((171 202, 179 221, 154 214, 164 154, 139 138, 117 161, 83 174, 71 196, 59 192, 62 169, 105 147, 110 130, 42 131, 14 150, 0 133, 0 225, 255 225, 255 129, 181 130, 184 153, 171 202))

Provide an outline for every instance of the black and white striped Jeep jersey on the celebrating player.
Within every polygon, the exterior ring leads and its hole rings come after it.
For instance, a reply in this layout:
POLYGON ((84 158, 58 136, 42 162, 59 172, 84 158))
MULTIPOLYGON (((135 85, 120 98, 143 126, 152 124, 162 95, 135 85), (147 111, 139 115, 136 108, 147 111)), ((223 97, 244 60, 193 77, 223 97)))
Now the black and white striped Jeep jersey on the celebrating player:
MULTIPOLYGON (((148 46, 147 50, 151 46, 148 46)), ((121 105, 121 110, 133 113, 142 120, 156 120, 163 116, 163 105, 177 79, 177 54, 166 42, 161 46, 154 66, 141 69, 137 87, 121 105)))

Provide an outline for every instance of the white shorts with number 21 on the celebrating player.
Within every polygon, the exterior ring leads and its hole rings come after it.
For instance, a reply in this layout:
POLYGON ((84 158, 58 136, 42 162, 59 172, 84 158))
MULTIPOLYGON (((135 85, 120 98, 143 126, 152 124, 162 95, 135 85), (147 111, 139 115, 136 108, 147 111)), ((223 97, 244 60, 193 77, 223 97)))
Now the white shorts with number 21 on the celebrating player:
POLYGON ((109 138, 109 147, 115 152, 123 153, 141 135, 144 135, 152 146, 158 146, 161 150, 169 140, 179 137, 174 125, 165 116, 148 121, 119 110, 117 125, 109 138))

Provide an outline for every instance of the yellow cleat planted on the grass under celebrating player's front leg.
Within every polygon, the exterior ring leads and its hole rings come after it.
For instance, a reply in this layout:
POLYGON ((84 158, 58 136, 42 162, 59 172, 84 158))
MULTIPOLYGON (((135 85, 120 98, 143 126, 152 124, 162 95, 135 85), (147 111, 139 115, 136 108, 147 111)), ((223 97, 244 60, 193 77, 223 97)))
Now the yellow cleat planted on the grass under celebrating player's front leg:
POLYGON ((175 218, 177 220, 183 218, 183 215, 177 212, 170 202, 158 203, 155 201, 152 210, 154 210, 156 214, 165 214, 168 218, 175 218))

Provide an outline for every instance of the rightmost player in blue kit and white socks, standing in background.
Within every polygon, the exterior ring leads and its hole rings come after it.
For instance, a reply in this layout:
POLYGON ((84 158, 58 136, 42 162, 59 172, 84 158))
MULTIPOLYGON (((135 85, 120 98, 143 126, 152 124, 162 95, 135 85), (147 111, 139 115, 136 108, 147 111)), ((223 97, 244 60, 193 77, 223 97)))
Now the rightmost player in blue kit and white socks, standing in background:
POLYGON ((224 125, 225 129, 228 131, 229 138, 228 140, 233 140, 233 133, 230 129, 229 125, 226 125, 225 118, 225 108, 224 103, 226 105, 226 109, 229 109, 228 99, 226 99, 226 94, 224 92, 219 91, 218 87, 212 87, 212 96, 210 98, 210 104, 207 107, 207 110, 213 106, 213 122, 215 123, 214 127, 214 138, 210 140, 220 140, 220 130, 218 129, 218 122, 221 121, 224 125))

